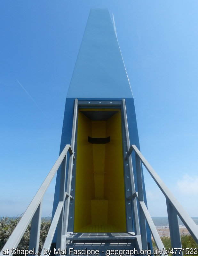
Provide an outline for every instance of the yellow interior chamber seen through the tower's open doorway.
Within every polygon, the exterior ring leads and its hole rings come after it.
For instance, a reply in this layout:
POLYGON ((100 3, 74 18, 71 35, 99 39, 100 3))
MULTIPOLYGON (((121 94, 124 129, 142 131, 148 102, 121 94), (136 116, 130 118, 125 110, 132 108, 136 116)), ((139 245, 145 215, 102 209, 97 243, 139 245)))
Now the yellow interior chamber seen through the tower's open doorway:
POLYGON ((74 232, 126 232, 118 109, 78 112, 74 232), (97 138, 96 142, 89 142, 88 137, 97 138), (101 143, 100 138, 108 137, 109 142, 101 143))

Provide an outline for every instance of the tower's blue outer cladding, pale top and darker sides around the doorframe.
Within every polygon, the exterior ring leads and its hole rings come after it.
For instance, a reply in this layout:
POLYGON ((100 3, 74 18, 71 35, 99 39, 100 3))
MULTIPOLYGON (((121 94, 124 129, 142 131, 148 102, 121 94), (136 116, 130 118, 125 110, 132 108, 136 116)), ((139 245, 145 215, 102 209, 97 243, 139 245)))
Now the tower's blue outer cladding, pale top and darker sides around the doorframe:
MULTIPOLYGON (((130 142, 139 148, 131 86, 108 9, 91 9, 90 11, 67 93, 60 152, 66 144, 71 142, 75 98, 88 101, 125 99, 130 142)), ((137 187, 135 166, 133 170, 137 187)), ((59 184, 60 172, 58 171, 52 217, 58 204, 59 184)), ((143 190, 146 199, 144 184, 143 190)), ((149 230, 147 233, 148 242, 151 243, 149 230)))

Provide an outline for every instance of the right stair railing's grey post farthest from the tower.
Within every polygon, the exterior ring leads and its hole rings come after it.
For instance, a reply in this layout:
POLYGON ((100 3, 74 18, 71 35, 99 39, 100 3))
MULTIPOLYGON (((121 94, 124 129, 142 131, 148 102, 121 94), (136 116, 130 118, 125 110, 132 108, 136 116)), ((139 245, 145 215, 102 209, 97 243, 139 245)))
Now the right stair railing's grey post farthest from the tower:
MULTIPOLYGON (((182 248, 181 247, 181 237, 180 237, 180 232, 179 232, 179 224, 178 224, 178 215, 177 215, 175 209, 170 204, 170 201, 167 197, 166 197, 166 205, 167 205, 168 220, 169 220, 171 247, 172 248, 182 248)), ((177 250, 174 253, 174 255, 182 255, 182 251, 177 250)))

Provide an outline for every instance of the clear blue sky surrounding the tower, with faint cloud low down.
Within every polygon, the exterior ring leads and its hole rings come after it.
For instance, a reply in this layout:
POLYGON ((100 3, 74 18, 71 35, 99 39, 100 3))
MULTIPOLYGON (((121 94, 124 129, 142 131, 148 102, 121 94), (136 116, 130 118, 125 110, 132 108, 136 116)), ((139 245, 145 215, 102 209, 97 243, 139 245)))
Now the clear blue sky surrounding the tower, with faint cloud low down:
MULTIPOLYGON (((0 2, 0 216, 25 211, 59 155, 75 60, 90 8, 100 7, 114 13, 141 151, 198 216, 197 0, 0 2)), ((145 180, 151 215, 166 216, 160 190, 145 180)))

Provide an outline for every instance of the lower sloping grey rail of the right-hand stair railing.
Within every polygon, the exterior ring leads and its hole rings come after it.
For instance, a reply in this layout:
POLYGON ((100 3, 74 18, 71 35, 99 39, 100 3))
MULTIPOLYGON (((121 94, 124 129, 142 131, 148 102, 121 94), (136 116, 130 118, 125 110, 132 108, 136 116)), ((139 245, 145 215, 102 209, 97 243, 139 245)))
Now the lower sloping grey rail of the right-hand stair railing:
MULTIPOLYGON (((164 252, 164 249, 165 249, 164 245, 163 245, 162 240, 161 240, 161 238, 160 238, 160 236, 157 232, 157 229, 155 228, 155 225, 154 225, 153 220, 150 216, 150 213, 148 212, 148 209, 147 209, 147 206, 146 206, 145 202, 144 201, 139 201, 139 205, 141 206, 141 209, 142 209, 142 211, 144 213, 144 216, 147 220, 148 226, 151 230, 151 233, 153 235, 153 239, 155 241, 155 244, 157 245, 157 248, 159 248, 160 250, 163 250, 163 252, 164 252)), ((164 254, 162 253, 162 255, 164 255, 164 254)))

